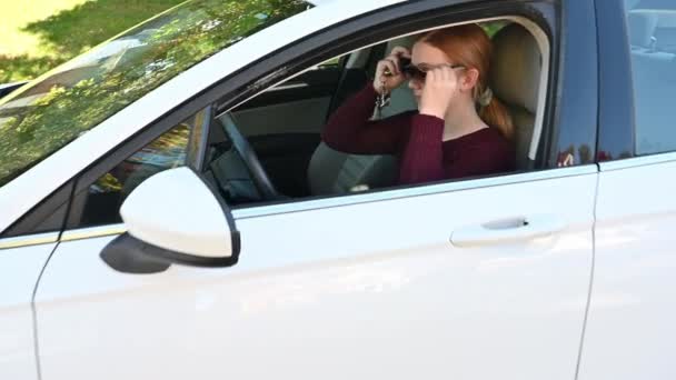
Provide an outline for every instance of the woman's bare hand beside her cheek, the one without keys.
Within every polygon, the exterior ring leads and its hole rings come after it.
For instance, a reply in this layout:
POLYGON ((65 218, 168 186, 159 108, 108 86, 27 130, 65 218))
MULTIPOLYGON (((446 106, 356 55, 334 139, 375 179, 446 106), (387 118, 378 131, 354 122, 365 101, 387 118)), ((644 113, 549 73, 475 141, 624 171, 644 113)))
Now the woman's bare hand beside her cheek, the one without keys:
POLYGON ((450 100, 458 91, 456 70, 443 66, 427 71, 418 107, 420 113, 444 119, 450 100))

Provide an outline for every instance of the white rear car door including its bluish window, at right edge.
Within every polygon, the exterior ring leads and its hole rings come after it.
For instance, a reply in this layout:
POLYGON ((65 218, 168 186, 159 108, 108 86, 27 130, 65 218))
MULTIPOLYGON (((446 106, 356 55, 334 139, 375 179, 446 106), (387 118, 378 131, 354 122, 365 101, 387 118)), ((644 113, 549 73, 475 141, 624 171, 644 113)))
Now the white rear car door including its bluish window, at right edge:
POLYGON ((579 378, 673 379, 676 4, 597 7, 608 63, 600 66, 595 273, 579 378))

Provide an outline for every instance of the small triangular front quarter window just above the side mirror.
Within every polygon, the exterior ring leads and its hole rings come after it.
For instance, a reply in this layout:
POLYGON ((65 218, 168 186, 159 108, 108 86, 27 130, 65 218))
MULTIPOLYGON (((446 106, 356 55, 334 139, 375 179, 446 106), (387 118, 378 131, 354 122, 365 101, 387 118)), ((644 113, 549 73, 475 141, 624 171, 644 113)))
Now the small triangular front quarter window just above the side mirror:
POLYGON ((186 164, 197 167, 196 156, 200 151, 208 114, 205 109, 183 120, 80 191, 73 200, 69 226, 119 223, 120 206, 142 181, 167 169, 186 164))

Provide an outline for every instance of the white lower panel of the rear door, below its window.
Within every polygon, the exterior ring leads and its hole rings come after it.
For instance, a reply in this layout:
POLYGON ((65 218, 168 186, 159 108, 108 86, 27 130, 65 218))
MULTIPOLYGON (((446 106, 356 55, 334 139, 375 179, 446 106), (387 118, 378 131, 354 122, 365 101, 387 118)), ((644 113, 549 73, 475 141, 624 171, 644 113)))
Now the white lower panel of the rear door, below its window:
POLYGON ((676 156, 600 168, 579 379, 674 379, 676 156))

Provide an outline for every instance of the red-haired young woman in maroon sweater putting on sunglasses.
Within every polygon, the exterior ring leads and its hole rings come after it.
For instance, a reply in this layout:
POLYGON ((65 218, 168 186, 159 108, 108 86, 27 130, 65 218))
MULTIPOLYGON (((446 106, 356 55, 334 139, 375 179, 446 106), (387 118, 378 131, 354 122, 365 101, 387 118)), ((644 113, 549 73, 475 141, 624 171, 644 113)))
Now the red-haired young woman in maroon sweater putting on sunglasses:
POLYGON ((395 48, 374 83, 331 116, 324 141, 347 153, 397 154, 400 184, 514 170, 511 119, 488 88, 490 56, 477 24, 426 33, 410 52, 395 48), (407 79, 418 111, 370 120, 378 96, 407 79))

